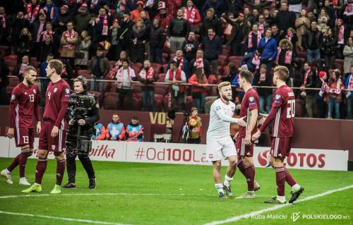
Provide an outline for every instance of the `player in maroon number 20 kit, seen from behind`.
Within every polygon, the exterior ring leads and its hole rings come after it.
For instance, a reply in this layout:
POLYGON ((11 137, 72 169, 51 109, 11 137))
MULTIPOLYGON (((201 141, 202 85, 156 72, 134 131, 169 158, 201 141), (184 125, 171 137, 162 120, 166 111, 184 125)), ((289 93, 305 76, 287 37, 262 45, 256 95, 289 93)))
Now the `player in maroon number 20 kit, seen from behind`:
POLYGON ((273 103, 270 114, 268 114, 258 131, 253 134, 252 139, 257 140, 261 132, 273 121, 273 137, 270 157, 268 162, 276 172, 277 197, 265 201, 265 203, 285 204, 285 182, 292 187, 292 196, 289 203, 297 200, 304 188, 294 181, 291 174, 284 165, 285 157, 290 152, 290 141, 294 133, 295 97, 292 88, 286 85, 289 71, 285 66, 276 66, 273 75, 273 84, 277 90, 273 93, 273 103))

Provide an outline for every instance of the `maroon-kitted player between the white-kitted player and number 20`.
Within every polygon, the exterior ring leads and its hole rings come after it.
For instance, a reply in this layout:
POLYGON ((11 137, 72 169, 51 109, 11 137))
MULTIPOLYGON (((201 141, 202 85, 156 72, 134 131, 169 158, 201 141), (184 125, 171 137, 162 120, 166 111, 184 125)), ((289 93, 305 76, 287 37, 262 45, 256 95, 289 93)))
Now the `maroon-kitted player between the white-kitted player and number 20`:
POLYGON ((255 168, 253 166, 253 143, 251 142, 251 135, 257 130, 256 123, 258 120, 260 99, 256 90, 251 86, 252 81, 253 73, 250 71, 245 70, 239 73, 239 85, 245 92, 239 116, 246 116, 246 127, 239 126, 236 143, 238 154, 237 166, 248 183, 248 191, 241 198, 253 198, 255 197, 254 191, 260 189, 260 186, 254 180, 255 168))

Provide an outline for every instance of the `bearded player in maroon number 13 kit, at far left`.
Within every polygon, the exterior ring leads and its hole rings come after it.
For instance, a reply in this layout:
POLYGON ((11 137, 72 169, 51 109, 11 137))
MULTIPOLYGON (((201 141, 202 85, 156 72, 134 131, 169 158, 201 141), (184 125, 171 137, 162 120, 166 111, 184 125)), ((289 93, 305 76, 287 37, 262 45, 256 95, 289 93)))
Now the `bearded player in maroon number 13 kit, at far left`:
POLYGON ((13 184, 11 171, 19 166, 19 183, 30 185, 25 178, 25 164, 33 152, 36 131, 35 118, 37 119, 37 133, 40 133, 40 108, 38 106, 40 89, 35 84, 36 78, 37 70, 32 66, 27 66, 23 72, 23 82, 19 83, 12 91, 8 110, 10 128, 8 128, 7 137, 15 138, 16 147, 20 147, 21 152, 13 159, 10 166, 0 173, 9 184, 13 184))

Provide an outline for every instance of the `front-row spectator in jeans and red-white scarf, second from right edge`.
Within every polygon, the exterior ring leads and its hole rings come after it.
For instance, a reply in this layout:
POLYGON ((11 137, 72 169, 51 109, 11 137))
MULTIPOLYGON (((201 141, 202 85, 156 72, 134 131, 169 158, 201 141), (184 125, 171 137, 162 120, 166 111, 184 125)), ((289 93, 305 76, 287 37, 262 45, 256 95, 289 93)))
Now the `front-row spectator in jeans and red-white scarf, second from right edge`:
POLYGON ((340 105, 342 102, 342 90, 345 85, 342 82, 340 70, 335 69, 328 83, 330 86, 330 100, 328 102, 328 118, 333 118, 333 108, 335 108, 335 118, 340 118, 340 105))

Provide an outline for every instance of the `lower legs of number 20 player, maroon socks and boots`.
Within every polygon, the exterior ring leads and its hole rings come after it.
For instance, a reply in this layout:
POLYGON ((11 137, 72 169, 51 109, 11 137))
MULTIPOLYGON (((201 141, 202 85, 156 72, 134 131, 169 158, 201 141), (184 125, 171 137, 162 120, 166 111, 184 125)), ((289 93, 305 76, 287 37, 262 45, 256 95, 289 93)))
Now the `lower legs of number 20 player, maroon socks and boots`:
POLYGON ((299 195, 304 191, 304 188, 299 186, 294 178, 289 173, 287 168, 285 168, 284 159, 280 159, 277 157, 270 156, 268 162, 271 164, 273 169, 276 172, 276 183, 277 183, 277 199, 273 198, 273 200, 267 201, 265 203, 285 203, 285 182, 292 187, 292 197, 289 200, 289 203, 297 200, 299 195))

